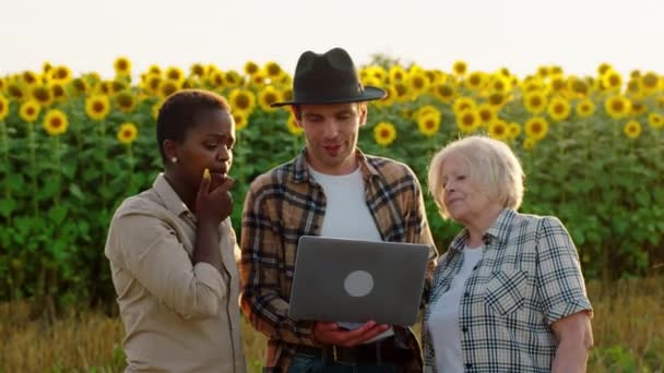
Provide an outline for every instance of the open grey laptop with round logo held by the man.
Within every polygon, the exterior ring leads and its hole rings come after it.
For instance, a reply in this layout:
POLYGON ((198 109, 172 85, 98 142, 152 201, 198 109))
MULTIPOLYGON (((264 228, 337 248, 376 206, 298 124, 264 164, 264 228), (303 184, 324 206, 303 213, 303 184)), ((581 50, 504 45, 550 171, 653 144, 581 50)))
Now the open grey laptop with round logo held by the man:
POLYGON ((426 244, 303 236, 288 315, 411 326, 417 321, 430 251, 426 244))

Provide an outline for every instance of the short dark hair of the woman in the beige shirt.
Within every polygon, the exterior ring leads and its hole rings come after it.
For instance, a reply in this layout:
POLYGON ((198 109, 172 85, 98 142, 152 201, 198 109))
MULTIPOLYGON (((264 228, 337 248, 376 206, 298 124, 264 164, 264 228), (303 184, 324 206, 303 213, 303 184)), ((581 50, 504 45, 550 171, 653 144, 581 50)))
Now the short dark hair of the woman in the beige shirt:
POLYGON ((226 98, 210 91, 182 89, 166 98, 157 116, 157 143, 164 161, 164 141, 183 143, 187 132, 195 125, 197 117, 213 109, 230 112, 226 98))

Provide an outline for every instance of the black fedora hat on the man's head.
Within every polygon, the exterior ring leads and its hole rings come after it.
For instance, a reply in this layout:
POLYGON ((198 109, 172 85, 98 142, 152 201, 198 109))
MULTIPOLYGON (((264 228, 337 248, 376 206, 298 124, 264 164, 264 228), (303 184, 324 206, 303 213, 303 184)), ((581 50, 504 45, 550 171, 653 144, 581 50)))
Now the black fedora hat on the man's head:
POLYGON ((322 55, 308 50, 297 60, 293 99, 271 106, 369 101, 386 95, 381 88, 361 85, 357 69, 345 50, 334 48, 322 55))

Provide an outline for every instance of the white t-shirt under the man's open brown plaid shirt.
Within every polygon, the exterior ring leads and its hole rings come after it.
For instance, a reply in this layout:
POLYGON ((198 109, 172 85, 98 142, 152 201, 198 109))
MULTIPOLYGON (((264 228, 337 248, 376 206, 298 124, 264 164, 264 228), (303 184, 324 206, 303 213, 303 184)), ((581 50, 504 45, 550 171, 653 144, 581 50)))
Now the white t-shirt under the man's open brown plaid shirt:
MULTIPOLYGON (((309 168, 309 172, 325 193, 325 216, 320 236, 366 241, 382 241, 374 216, 365 198, 365 182, 361 170, 357 168, 348 175, 325 175, 309 168)), ((354 329, 360 323, 339 323, 354 329)), ((374 341, 394 334, 392 328, 380 334, 374 341)))

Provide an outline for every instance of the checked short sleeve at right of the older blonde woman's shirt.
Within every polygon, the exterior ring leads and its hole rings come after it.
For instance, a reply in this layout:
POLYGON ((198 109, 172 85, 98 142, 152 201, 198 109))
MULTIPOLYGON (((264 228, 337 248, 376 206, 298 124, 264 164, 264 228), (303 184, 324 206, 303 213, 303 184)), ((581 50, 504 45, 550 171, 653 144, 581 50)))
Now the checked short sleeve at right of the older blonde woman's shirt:
POLYGON ((592 306, 585 292, 579 254, 562 222, 541 220, 537 231, 537 289, 549 324, 592 306))

